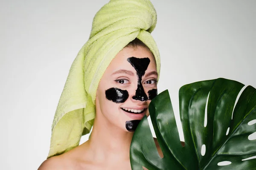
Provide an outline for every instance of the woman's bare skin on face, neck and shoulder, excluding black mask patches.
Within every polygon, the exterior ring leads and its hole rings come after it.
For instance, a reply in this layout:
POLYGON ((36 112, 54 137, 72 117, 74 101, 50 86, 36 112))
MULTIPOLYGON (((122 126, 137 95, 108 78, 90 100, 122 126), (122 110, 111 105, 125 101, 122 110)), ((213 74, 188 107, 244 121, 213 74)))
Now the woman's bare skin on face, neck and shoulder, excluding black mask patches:
MULTIPOLYGON (((126 129, 125 122, 132 118, 121 108, 145 108, 144 114, 148 116, 150 100, 140 101, 132 98, 137 90, 138 77, 134 67, 127 61, 129 57, 150 59, 142 78, 143 88, 146 94, 152 88, 157 88, 157 75, 149 74, 157 71, 151 51, 144 47, 124 48, 111 61, 99 83, 96 118, 90 139, 62 155, 47 159, 38 170, 131 170, 130 145, 133 133, 126 129), (120 69, 128 70, 130 74, 127 74, 127 71, 113 74, 120 69), (119 82, 120 79, 123 81, 119 82), (111 87, 127 90, 129 98, 124 103, 109 101, 105 91, 111 87)), ((154 140, 160 156, 163 157, 157 140, 154 140)))

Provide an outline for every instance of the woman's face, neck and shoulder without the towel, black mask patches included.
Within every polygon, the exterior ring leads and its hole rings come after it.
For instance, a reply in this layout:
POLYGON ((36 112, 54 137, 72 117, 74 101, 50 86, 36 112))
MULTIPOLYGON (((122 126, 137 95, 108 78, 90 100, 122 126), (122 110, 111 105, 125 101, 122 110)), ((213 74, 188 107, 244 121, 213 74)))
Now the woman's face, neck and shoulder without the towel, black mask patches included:
MULTIPOLYGON (((96 92, 96 117, 90 139, 45 161, 39 170, 131 169, 130 144, 148 105, 157 95, 154 55, 139 39, 133 40, 111 61, 96 92)), ((155 139, 160 156, 163 153, 155 139)), ((146 168, 144 168, 146 169, 146 168)))

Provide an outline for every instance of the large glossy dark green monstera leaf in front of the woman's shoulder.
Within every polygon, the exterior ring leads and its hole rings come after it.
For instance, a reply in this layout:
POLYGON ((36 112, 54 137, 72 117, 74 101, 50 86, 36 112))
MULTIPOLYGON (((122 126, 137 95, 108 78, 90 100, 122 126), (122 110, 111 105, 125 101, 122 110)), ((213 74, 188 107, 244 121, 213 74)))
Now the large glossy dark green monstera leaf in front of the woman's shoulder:
POLYGON ((251 159, 256 156, 256 140, 250 139, 256 135, 256 89, 247 86, 236 103, 243 87, 240 82, 220 78, 180 88, 184 147, 180 143, 169 93, 159 94, 151 101, 149 112, 163 158, 157 152, 144 117, 131 142, 132 169, 256 170, 256 159, 251 159), (224 161, 229 164, 220 166, 224 161))

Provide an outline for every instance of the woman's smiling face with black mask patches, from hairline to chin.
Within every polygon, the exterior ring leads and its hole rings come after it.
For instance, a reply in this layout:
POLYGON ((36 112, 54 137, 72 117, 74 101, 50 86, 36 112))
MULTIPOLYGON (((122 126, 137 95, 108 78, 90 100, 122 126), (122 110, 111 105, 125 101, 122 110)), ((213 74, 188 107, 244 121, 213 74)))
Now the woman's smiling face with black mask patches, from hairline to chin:
POLYGON ((149 115, 157 95, 157 69, 152 53, 143 47, 126 47, 111 61, 96 93, 96 113, 110 125, 133 132, 149 115))

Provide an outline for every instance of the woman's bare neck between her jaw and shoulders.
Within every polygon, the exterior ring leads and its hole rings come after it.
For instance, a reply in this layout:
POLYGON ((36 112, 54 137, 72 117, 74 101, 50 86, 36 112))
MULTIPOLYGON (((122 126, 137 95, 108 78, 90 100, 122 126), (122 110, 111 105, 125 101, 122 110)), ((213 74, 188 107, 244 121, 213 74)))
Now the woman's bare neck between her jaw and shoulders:
POLYGON ((98 162, 129 160, 132 136, 133 133, 110 125, 102 115, 97 115, 90 139, 84 143, 87 148, 85 152, 98 162))

